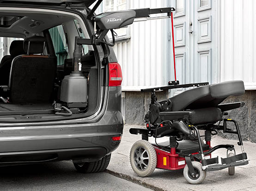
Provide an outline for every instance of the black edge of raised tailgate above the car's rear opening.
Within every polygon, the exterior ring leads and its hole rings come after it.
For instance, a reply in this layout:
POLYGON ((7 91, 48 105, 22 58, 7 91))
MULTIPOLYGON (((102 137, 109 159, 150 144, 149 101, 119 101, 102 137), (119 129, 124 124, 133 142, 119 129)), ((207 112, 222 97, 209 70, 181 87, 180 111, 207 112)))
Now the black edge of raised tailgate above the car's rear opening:
POLYGON ((22 4, 33 4, 33 5, 65 5, 71 4, 83 4, 86 7, 91 6, 96 0, 1 0, 1 3, 22 3, 22 4))

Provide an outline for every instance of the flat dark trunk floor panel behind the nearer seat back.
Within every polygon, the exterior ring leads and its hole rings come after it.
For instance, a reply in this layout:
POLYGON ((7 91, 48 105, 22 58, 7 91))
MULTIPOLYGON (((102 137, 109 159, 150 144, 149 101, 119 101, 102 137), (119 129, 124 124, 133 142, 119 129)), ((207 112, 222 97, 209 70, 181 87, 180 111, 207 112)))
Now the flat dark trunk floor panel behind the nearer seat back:
POLYGON ((53 110, 52 104, 0 104, 1 111, 53 110))

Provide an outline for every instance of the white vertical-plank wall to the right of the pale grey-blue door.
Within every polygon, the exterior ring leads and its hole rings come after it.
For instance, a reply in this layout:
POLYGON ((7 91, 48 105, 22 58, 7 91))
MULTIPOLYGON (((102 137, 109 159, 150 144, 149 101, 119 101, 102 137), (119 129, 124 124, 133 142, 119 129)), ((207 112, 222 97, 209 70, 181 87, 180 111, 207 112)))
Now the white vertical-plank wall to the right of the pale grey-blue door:
POLYGON ((256 1, 221 0, 220 81, 256 89, 256 1))

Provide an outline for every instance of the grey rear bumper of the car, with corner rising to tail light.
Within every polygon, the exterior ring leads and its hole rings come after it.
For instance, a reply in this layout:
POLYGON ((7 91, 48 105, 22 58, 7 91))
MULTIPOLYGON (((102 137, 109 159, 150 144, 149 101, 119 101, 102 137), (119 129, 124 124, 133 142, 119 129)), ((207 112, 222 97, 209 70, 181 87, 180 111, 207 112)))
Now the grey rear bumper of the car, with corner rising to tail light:
POLYGON ((97 119, 0 124, 0 165, 101 159, 120 144, 111 138, 123 131, 121 94, 121 87, 110 88, 97 119))

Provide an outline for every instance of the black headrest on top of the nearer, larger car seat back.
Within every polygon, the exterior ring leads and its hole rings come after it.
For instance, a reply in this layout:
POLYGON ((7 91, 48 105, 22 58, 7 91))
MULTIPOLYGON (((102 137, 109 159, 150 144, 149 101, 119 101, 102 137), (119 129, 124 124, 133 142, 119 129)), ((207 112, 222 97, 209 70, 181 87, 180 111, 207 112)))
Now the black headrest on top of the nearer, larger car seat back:
POLYGON ((24 39, 23 48, 27 55, 41 54, 46 46, 46 38, 43 36, 30 36, 24 39))

